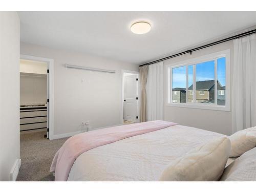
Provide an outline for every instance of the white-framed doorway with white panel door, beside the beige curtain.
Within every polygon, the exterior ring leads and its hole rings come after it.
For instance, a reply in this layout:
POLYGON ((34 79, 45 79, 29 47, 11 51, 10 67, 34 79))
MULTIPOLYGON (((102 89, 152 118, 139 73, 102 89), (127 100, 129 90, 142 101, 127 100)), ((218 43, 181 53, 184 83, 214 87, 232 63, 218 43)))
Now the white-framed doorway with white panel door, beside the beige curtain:
POLYGON ((122 122, 139 122, 139 72, 122 70, 122 122))

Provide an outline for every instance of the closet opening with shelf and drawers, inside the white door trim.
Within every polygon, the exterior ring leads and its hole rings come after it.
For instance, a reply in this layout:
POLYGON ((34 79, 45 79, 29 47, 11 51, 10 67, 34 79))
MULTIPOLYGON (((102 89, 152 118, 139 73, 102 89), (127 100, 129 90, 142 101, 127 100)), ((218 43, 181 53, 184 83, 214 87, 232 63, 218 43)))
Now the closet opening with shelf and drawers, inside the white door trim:
POLYGON ((20 133, 44 132, 49 138, 48 63, 20 59, 20 133))

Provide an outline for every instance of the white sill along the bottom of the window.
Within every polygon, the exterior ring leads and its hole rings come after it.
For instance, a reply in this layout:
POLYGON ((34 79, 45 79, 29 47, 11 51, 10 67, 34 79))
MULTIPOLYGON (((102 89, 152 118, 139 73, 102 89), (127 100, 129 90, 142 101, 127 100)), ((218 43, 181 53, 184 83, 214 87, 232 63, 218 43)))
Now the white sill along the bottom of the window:
POLYGON ((215 105, 215 104, 200 104, 200 103, 166 103, 166 106, 175 106, 179 108, 193 108, 202 110, 215 111, 230 111, 229 106, 215 105))

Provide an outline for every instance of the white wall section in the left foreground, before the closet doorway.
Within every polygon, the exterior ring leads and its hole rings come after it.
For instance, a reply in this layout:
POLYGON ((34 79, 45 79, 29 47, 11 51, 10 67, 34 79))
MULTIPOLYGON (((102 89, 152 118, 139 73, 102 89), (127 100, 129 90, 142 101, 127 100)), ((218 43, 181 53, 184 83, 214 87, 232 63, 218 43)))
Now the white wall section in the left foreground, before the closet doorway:
MULTIPOLYGON (((0 181, 19 159, 19 18, 0 12, 0 181)), ((14 178, 15 179, 15 178, 14 178)))

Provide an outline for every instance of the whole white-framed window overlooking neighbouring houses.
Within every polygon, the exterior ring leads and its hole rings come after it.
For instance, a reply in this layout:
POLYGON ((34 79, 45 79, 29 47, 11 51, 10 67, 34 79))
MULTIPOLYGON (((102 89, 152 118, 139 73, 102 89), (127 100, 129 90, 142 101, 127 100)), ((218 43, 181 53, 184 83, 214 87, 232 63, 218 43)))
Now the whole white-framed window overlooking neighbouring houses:
POLYGON ((226 92, 229 90, 229 52, 226 50, 167 66, 167 104, 230 111, 226 92))

